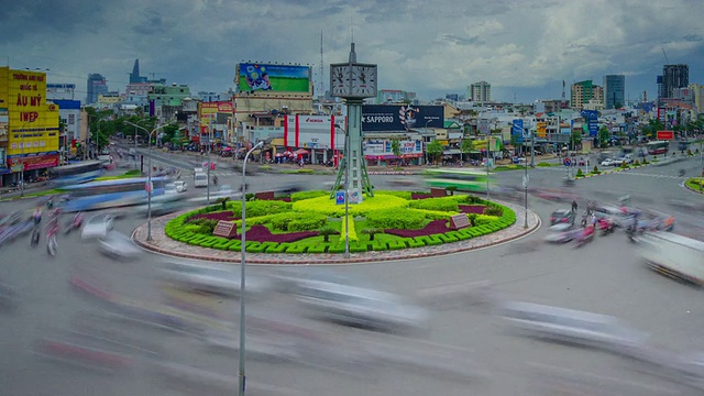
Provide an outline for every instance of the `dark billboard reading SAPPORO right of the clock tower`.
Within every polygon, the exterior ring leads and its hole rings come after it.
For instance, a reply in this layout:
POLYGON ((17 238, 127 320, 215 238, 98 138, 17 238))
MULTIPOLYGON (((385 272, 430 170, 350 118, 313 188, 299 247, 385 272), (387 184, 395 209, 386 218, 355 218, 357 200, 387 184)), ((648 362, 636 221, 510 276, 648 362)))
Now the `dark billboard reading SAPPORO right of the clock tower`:
POLYGON ((362 106, 363 132, 444 128, 442 106, 362 106))

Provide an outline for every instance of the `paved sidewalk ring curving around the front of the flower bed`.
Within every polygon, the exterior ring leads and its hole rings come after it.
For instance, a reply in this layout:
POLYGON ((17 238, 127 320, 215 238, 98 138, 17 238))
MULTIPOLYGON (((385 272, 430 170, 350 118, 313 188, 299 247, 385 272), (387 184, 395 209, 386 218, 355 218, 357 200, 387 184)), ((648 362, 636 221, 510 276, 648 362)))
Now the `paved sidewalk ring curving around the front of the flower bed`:
MULTIPOLYGON (((383 252, 351 253, 350 258, 342 254, 266 254, 246 253, 248 264, 354 264, 391 262, 411 258, 431 257, 454 253, 469 252, 476 249, 490 248, 501 243, 517 240, 531 234, 540 228, 540 218, 528 210, 528 228, 524 229, 524 208, 509 202, 501 202, 516 212, 516 222, 488 235, 472 238, 466 241, 446 243, 437 246, 424 246, 383 252)), ((146 241, 147 224, 138 227, 132 233, 132 240, 142 249, 170 257, 200 260, 219 263, 240 263, 241 253, 221 251, 180 243, 166 237, 164 227, 173 218, 183 212, 167 215, 152 220, 152 241, 146 241)))

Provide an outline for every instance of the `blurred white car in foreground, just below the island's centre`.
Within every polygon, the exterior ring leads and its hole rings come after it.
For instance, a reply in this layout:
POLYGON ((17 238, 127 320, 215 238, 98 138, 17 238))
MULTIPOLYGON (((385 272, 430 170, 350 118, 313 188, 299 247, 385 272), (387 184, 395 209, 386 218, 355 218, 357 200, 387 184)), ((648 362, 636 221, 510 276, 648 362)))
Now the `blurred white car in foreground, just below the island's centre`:
POLYGON ((385 292, 331 282, 301 280, 295 294, 318 316, 342 324, 389 332, 421 330, 428 324, 425 309, 385 292))

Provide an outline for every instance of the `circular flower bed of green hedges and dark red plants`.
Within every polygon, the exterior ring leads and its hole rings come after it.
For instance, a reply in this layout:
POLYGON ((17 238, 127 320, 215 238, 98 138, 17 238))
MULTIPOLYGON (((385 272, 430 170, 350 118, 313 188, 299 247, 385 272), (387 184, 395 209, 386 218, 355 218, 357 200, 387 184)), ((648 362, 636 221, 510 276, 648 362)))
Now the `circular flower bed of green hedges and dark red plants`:
MULTIPOLYGON (((254 253, 343 253, 344 206, 336 205, 328 193, 295 196, 292 202, 252 200, 246 202, 248 252, 254 253), (318 230, 333 229, 339 235, 318 230)), ((466 195, 428 197, 418 202, 418 193, 377 191, 373 198, 349 207, 350 251, 384 251, 437 245, 466 240, 502 230, 516 221, 516 213, 494 202, 466 195), (409 199, 410 198, 410 199, 409 199), (457 209, 457 210, 453 210, 457 209), (450 216, 466 213, 472 227, 448 229, 450 216), (369 232, 369 230, 383 230, 369 232)), ((213 205, 180 215, 166 224, 166 235, 202 248, 239 251, 240 241, 211 235, 217 221, 234 221, 241 228, 240 201, 213 205)))

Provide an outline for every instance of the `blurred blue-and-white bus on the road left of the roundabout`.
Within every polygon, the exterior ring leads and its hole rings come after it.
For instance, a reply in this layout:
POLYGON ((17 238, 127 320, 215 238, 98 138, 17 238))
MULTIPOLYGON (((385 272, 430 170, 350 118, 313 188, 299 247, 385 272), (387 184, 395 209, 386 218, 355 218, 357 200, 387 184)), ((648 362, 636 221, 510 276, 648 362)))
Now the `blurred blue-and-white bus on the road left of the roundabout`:
MULTIPOLYGON (((62 187, 68 195, 62 209, 76 212, 141 205, 147 198, 146 180, 146 177, 134 177, 62 187)), ((152 177, 152 197, 164 195, 166 183, 165 177, 152 177)))

